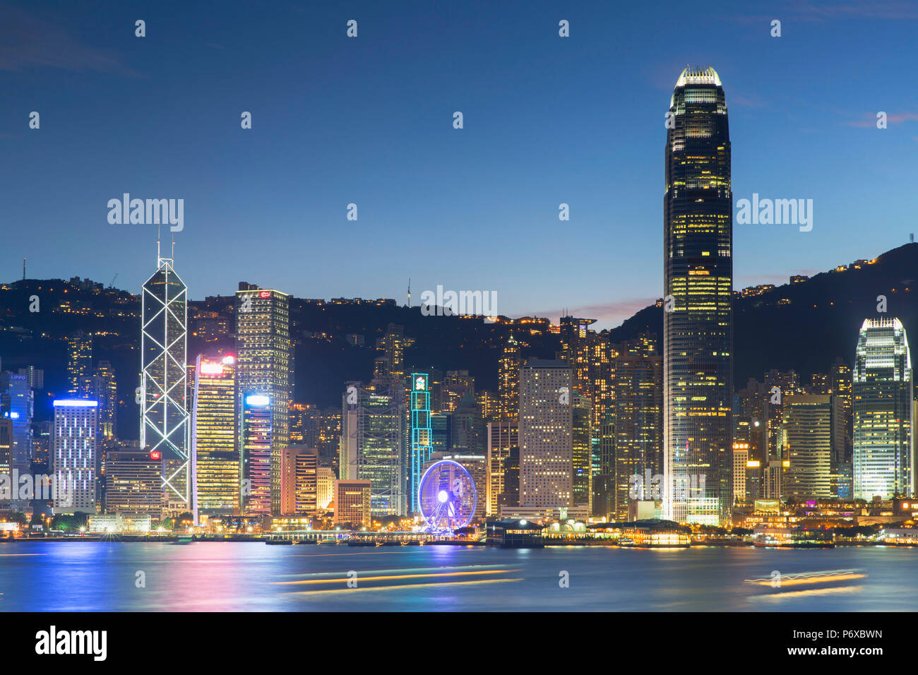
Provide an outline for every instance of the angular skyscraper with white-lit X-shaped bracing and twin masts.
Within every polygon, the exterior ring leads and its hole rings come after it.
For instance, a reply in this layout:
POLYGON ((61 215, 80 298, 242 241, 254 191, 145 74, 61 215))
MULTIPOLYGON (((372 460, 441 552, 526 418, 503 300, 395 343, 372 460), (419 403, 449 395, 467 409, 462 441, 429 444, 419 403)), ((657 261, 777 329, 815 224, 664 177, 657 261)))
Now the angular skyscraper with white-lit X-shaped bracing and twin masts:
POLYGON ((143 285, 140 312, 140 447, 162 457, 168 502, 197 521, 185 367, 188 289, 175 274, 173 257, 162 257, 158 240, 156 272, 143 285))

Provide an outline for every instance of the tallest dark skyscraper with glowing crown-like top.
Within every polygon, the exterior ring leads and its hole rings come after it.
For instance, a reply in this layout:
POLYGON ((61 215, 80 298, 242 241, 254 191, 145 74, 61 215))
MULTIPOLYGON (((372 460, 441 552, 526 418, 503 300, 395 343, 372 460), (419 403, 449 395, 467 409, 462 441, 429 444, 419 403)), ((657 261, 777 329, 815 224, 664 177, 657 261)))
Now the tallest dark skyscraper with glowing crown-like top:
POLYGON ((666 517, 726 523, 732 507, 733 190, 720 76, 687 67, 666 114, 666 517))

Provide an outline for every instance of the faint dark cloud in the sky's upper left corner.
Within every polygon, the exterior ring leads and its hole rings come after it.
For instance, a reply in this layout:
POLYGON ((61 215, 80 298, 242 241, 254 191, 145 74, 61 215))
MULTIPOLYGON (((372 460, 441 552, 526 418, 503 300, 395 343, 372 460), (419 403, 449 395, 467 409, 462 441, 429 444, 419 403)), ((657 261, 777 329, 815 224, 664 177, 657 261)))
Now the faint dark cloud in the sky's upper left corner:
POLYGON ((61 26, 18 7, 0 5, 0 71, 33 67, 140 77, 116 53, 82 44, 61 26))

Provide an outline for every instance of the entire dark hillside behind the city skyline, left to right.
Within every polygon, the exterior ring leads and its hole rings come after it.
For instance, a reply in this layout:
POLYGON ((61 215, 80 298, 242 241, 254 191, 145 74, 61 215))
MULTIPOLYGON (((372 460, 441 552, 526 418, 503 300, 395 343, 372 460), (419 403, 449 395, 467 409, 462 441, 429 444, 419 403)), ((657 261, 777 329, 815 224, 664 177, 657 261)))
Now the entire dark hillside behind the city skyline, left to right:
MULTIPOLYGON (((872 263, 847 265, 796 283, 734 301, 734 384, 748 377, 761 379, 770 368, 790 369, 802 381, 824 373, 836 356, 853 363, 857 331, 868 317, 879 316, 877 296, 887 297, 887 316, 897 316, 912 336, 918 335, 918 244, 906 244, 880 255, 872 263)), ((414 339, 406 350, 407 367, 442 371, 466 369, 476 378, 476 389, 497 389, 498 358, 509 335, 506 324, 480 319, 422 316, 418 307, 394 303, 326 302, 299 298, 291 301, 291 337, 295 356, 295 397, 319 406, 341 403, 341 388, 349 379, 367 380, 373 372, 375 340, 388 323, 405 327, 414 339), (364 336, 364 346, 346 342, 345 335, 364 336)), ((229 298, 193 301, 192 317, 216 311, 232 326, 229 298)), ((554 318, 556 321, 556 318, 554 318)), ((134 389, 140 378, 140 298, 116 288, 83 281, 27 279, 0 285, 0 359, 4 369, 34 365, 45 371, 45 388, 36 397, 37 416, 48 419, 50 401, 66 391, 65 337, 77 330, 95 332, 94 362, 106 359, 115 367, 121 406, 119 432, 137 436, 139 411, 134 389), (29 298, 39 296, 40 310, 30 312, 29 298)), ((650 330, 662 337, 663 309, 642 309, 605 334, 613 343, 650 330)), ((537 328, 515 332, 527 343, 527 356, 554 358, 558 336, 537 328)), ((203 343, 189 337, 188 357, 216 346, 232 348, 232 340, 203 343)))

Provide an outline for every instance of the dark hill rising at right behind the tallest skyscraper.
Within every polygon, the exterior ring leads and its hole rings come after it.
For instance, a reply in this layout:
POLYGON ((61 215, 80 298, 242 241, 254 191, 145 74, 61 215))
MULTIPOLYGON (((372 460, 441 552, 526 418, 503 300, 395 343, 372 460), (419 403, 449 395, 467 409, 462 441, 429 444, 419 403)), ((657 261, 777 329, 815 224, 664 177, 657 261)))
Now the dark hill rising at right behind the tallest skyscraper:
MULTIPOLYGON (((893 249, 873 262, 845 265, 760 296, 733 301, 733 383, 762 379, 770 368, 794 369, 801 381, 826 373, 836 356, 854 364, 857 332, 865 319, 877 318, 877 297, 887 298, 885 316, 898 317, 910 336, 918 337, 918 243, 893 249)), ((647 307, 610 331, 612 342, 650 330, 663 335, 663 309, 647 307)))

